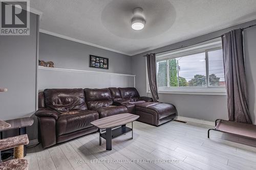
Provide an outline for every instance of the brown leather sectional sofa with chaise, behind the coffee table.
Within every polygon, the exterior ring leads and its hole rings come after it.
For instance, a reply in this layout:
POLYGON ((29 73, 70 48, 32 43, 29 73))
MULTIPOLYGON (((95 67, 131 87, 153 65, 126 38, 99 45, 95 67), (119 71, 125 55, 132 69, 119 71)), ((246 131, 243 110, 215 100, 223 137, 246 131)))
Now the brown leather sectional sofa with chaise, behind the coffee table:
POLYGON ((38 138, 43 148, 98 129, 90 123, 121 113, 139 115, 139 121, 159 126, 176 116, 172 104, 141 97, 136 88, 45 89, 39 92, 38 138))

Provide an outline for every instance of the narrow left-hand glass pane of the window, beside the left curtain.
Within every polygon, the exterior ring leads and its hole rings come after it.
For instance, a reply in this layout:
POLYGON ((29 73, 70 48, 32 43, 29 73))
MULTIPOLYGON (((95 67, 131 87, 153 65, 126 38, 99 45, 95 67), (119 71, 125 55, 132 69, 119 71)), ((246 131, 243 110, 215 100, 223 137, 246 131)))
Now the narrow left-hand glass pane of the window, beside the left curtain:
POLYGON ((167 86, 167 64, 166 61, 157 62, 157 85, 158 87, 167 86))

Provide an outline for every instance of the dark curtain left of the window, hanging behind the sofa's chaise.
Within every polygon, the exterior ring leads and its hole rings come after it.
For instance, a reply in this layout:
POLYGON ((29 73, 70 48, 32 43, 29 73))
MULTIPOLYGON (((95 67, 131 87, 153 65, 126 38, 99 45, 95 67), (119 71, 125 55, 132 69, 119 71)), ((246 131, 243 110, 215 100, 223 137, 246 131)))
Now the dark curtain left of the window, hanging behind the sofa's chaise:
POLYGON ((158 92, 157 92, 157 76, 156 76, 156 55, 147 54, 146 55, 147 64, 147 75, 148 82, 150 83, 150 91, 154 102, 158 102, 158 92))

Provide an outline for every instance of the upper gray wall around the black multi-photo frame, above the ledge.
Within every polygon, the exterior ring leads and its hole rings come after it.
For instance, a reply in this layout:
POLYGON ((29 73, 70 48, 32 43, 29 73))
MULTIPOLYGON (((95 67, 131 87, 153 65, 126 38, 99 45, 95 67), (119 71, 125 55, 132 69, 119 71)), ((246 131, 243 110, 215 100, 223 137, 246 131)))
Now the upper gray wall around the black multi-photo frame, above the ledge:
POLYGON ((44 33, 39 35, 39 59, 53 61, 56 68, 132 74, 130 56, 44 33), (109 69, 89 67, 89 55, 109 58, 109 69))

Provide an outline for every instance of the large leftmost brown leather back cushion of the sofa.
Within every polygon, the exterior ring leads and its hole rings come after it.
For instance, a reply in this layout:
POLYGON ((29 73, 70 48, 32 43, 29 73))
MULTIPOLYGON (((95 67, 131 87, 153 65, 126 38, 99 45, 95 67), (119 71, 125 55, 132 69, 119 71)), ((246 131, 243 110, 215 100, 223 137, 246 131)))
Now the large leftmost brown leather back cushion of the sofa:
POLYGON ((83 89, 45 89, 45 105, 57 112, 87 110, 83 89))

